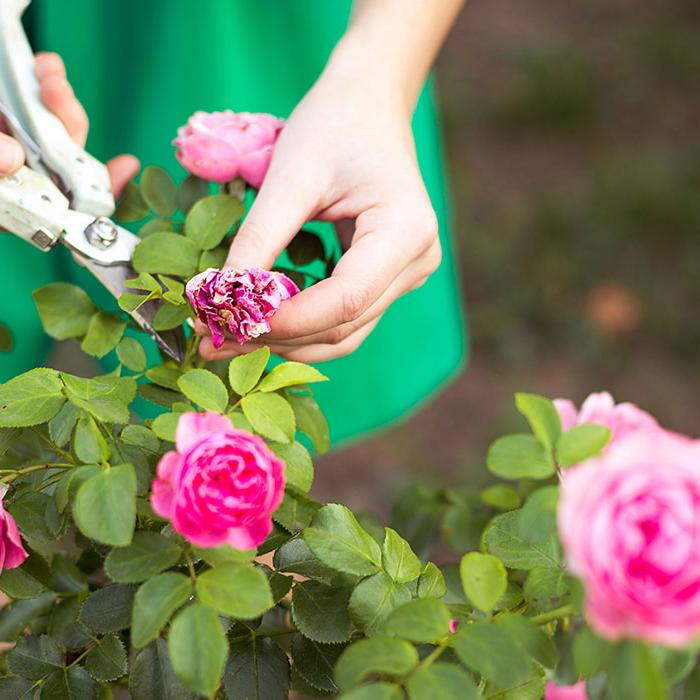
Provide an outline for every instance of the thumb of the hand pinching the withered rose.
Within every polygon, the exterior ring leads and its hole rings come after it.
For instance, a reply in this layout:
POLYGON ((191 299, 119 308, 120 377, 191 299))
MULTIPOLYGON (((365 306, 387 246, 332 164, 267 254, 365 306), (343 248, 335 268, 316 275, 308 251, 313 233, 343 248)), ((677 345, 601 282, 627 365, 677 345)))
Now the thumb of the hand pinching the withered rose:
POLYGON ((226 258, 228 267, 269 270, 312 214, 312 188, 303 186, 296 173, 273 166, 233 239, 226 258))

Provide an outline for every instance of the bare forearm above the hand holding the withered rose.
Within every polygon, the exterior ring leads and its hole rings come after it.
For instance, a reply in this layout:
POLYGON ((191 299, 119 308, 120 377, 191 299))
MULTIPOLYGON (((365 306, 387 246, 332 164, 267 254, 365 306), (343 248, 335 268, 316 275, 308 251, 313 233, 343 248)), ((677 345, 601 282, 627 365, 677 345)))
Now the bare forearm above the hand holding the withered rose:
POLYGON ((464 0, 355 0, 329 61, 412 111, 464 0))

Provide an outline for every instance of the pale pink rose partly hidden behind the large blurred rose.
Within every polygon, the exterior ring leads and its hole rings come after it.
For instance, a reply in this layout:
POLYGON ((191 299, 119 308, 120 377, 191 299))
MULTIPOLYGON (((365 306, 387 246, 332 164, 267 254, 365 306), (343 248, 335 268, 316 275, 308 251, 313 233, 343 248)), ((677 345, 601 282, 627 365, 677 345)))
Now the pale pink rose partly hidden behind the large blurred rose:
POLYGON ((615 404, 607 391, 591 394, 581 405, 580 411, 568 399, 555 399, 554 405, 564 430, 584 423, 599 423, 610 428, 612 435, 608 447, 613 441, 632 433, 661 430, 653 416, 633 403, 615 404))

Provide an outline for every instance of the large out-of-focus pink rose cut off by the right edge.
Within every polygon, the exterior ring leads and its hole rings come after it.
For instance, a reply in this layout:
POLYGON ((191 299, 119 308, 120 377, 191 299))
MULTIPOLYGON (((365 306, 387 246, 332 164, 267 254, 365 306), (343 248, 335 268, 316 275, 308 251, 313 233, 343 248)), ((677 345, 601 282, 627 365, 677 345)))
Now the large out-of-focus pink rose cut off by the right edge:
POLYGON ((601 636, 700 636, 700 442, 663 430, 617 439, 567 471, 558 524, 601 636))

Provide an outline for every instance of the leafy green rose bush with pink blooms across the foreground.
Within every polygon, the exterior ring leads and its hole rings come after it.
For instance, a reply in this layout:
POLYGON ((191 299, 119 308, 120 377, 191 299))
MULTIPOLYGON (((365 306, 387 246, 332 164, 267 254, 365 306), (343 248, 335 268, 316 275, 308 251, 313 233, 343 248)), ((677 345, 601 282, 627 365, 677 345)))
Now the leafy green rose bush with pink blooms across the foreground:
MULTIPOLYGON (((122 310, 159 299, 175 328, 195 278, 212 332, 246 328, 219 323, 240 274, 210 271, 244 213, 230 189, 153 167, 129 186, 122 310)), ((302 283, 332 267, 309 236, 284 269, 302 283)), ((264 316, 283 278, 259 276, 264 316)), ((179 364, 77 287, 35 300, 110 371, 0 385, 0 700, 700 697, 695 440, 607 394, 518 394, 529 430, 491 445, 493 483, 414 485, 381 522, 310 494, 316 369, 265 347, 205 366, 194 335, 179 364)))

